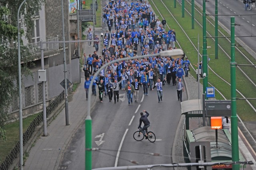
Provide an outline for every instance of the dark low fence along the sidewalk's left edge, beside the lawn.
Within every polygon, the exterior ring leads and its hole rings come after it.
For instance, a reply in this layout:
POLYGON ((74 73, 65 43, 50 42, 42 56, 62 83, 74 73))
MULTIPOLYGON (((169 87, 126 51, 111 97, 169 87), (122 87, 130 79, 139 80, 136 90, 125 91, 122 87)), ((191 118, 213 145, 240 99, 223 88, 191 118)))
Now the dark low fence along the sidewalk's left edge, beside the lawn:
MULTIPOLYGON (((52 111, 64 100, 65 93, 62 91, 58 97, 56 97, 48 107, 46 107, 46 117, 48 117, 52 111)), ((40 112, 39 115, 32 121, 26 132, 23 133, 23 145, 30 139, 30 136, 34 132, 35 128, 40 125, 43 121, 43 112, 40 112)), ((10 154, 6 156, 4 162, 0 165, 0 170, 8 170, 13 160, 17 157, 17 154, 20 152, 20 141, 17 142, 15 147, 12 149, 10 154)))

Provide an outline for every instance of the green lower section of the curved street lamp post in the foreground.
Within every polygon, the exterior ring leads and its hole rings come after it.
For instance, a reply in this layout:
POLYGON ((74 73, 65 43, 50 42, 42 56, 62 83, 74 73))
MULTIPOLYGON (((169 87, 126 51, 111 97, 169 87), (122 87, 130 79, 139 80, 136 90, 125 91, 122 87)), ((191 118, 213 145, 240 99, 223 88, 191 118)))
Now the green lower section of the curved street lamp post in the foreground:
POLYGON ((85 169, 92 169, 92 118, 90 115, 85 119, 85 169))

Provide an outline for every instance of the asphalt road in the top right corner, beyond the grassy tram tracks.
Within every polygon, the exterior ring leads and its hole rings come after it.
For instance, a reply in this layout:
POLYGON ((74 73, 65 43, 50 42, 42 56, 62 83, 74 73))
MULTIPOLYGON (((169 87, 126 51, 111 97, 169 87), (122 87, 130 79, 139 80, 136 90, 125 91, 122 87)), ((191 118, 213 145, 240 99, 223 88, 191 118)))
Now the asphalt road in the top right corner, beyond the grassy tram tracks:
MULTIPOLYGON (((202 8, 202 0, 195 0, 202 8)), ((215 0, 208 0, 206 2, 206 11, 210 14, 215 14, 215 0)), ((255 3, 253 4, 255 5, 255 3)), ((226 14, 230 16, 218 16, 218 21, 230 30, 230 17, 235 16, 235 23, 240 26, 235 26, 235 36, 256 36, 256 9, 244 10, 242 0, 218 0, 218 14, 226 14), (244 16, 245 14, 255 14, 255 16, 244 16)), ((207 29, 207 28, 206 28, 207 29)), ((214 35, 212 35, 214 36, 214 35)), ((218 36, 220 33, 218 33, 218 36)), ((256 53, 256 38, 255 37, 240 37, 244 42, 256 53)))

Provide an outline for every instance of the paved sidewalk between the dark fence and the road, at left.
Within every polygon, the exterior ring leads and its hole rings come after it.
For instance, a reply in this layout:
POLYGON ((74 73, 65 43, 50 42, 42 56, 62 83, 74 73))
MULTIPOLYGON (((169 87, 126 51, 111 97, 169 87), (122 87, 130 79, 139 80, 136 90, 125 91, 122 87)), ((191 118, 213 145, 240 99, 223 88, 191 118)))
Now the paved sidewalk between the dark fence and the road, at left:
MULTIPOLYGON (((102 31, 95 31, 100 35, 102 31)), ((93 54, 95 47, 88 47, 88 43, 82 44, 83 53, 93 54)), ((101 48, 98 51, 100 56, 101 48)), ((40 136, 34 147, 31 148, 29 156, 25 162, 24 170, 57 170, 61 160, 62 153, 67 144, 76 132, 77 128, 83 123, 87 115, 86 94, 84 91, 84 71, 81 72, 81 83, 73 95, 72 101, 68 103, 69 123, 66 126, 65 108, 58 117, 47 127, 48 136, 40 136)), ((98 101, 98 96, 91 96, 93 107, 98 101)))

